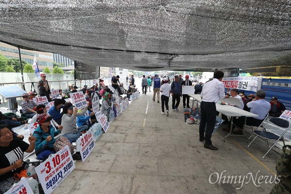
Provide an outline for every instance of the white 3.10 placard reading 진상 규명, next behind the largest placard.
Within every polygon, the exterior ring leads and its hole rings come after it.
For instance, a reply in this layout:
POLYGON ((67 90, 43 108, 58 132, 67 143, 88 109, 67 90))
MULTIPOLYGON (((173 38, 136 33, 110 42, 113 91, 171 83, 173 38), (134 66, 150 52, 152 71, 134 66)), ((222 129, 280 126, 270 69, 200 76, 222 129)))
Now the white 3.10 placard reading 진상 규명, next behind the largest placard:
POLYGON ((79 146, 82 161, 85 162, 85 160, 95 147, 95 142, 92 136, 91 129, 89 129, 85 134, 81 136, 81 138, 77 141, 77 145, 79 146))

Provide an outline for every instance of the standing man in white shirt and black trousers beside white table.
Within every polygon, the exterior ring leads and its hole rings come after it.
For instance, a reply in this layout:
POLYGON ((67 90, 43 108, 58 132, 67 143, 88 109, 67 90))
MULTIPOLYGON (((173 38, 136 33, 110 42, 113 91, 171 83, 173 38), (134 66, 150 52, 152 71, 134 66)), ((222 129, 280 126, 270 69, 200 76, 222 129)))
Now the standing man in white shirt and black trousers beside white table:
POLYGON ((215 125, 216 106, 220 98, 228 98, 225 95, 224 84, 222 81, 224 73, 222 71, 215 71, 213 80, 205 83, 201 92, 201 120, 199 125, 199 141, 205 140, 204 147, 212 150, 218 150, 217 147, 212 146, 211 135, 215 125), (207 125, 206 125, 207 123, 207 125), (205 136, 204 130, 206 126, 205 136))

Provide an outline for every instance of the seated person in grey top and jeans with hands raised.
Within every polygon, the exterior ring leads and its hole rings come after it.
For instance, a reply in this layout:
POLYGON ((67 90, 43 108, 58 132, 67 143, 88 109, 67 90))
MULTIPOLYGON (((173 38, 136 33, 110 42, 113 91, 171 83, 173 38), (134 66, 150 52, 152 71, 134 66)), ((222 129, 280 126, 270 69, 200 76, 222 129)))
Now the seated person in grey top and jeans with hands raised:
POLYGON ((66 103, 63 107, 64 115, 62 117, 62 126, 64 126, 62 130, 62 135, 68 138, 69 141, 75 142, 80 136, 83 130, 88 130, 88 126, 82 126, 77 128, 77 118, 78 116, 82 116, 88 107, 85 107, 81 113, 77 113, 77 107, 74 108, 72 103, 66 103))

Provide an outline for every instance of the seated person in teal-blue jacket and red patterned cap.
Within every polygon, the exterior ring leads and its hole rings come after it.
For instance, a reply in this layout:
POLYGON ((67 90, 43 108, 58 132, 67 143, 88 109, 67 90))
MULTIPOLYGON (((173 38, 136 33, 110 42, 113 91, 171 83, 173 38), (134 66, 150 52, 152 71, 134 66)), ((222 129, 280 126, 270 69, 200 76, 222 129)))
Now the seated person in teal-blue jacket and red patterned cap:
POLYGON ((52 117, 53 116, 49 116, 48 114, 40 114, 36 118, 36 122, 39 126, 34 130, 33 136, 36 138, 35 154, 37 160, 45 160, 50 154, 56 153, 53 148, 53 145, 56 142, 54 137, 60 134, 62 129, 54 129, 50 124, 52 117))

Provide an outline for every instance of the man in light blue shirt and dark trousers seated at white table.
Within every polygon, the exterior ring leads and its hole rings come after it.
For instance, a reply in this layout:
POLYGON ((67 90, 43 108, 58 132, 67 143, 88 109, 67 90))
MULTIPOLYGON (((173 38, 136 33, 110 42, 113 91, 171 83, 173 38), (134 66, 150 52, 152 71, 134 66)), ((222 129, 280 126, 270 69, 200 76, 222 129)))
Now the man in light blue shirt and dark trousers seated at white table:
MULTIPOLYGON (((258 90, 255 94, 255 99, 246 104, 248 108, 251 108, 250 113, 259 115, 258 117, 246 117, 246 125, 258 127, 263 122, 267 113, 271 110, 271 105, 265 100, 265 97, 265 92, 263 90, 258 90)), ((242 134, 244 120, 244 116, 233 119, 233 123, 239 128, 235 134, 242 134)))

